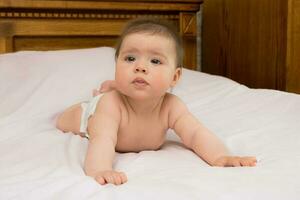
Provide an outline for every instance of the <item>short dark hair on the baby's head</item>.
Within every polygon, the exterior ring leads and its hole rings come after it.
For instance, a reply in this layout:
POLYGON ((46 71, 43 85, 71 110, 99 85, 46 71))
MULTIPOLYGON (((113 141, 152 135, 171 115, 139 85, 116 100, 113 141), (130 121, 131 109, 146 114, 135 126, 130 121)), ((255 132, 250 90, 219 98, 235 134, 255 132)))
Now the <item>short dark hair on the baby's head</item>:
POLYGON ((176 48, 176 67, 182 67, 183 65, 183 47, 182 39, 176 31, 175 27, 171 23, 165 20, 140 18, 134 19, 127 23, 122 31, 119 40, 115 46, 115 57, 118 58, 121 45, 126 36, 132 33, 149 33, 153 35, 162 35, 172 39, 176 48))

